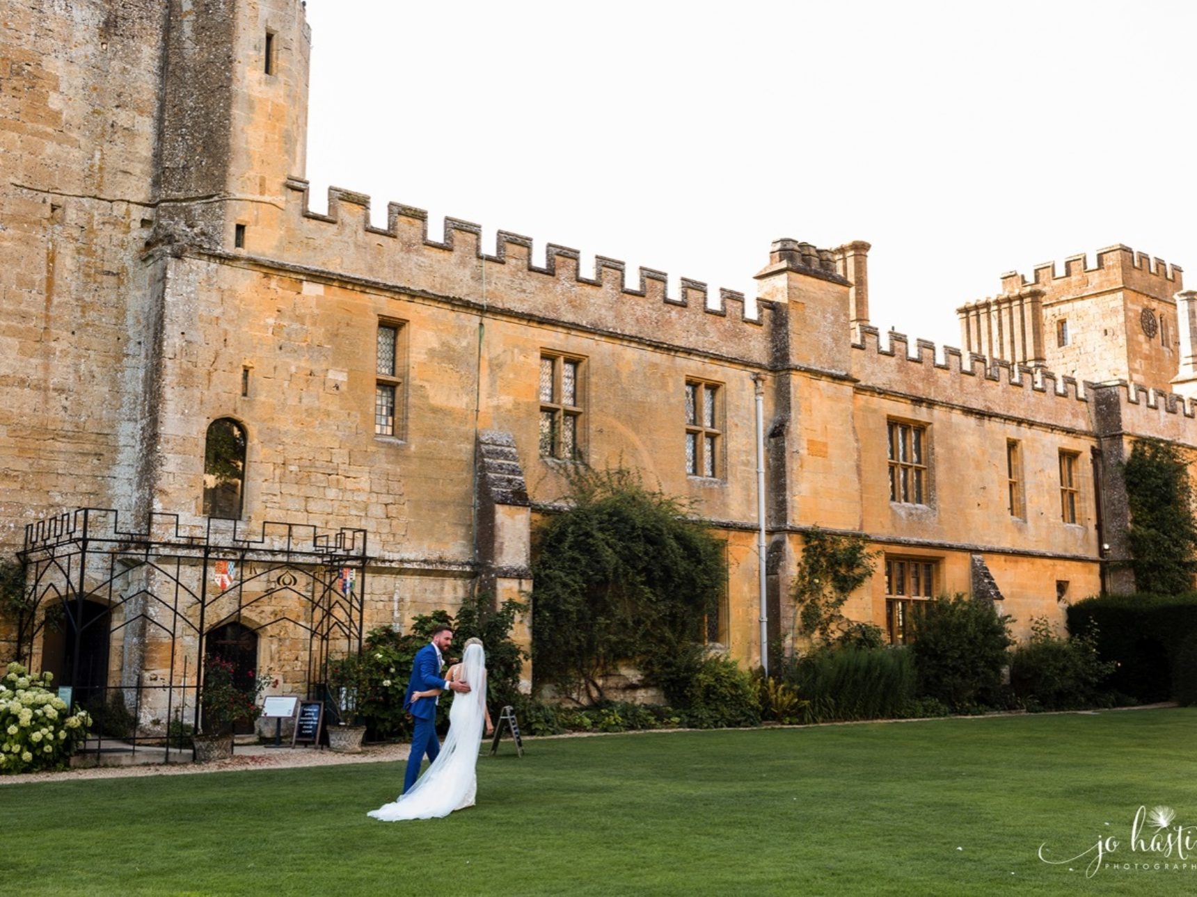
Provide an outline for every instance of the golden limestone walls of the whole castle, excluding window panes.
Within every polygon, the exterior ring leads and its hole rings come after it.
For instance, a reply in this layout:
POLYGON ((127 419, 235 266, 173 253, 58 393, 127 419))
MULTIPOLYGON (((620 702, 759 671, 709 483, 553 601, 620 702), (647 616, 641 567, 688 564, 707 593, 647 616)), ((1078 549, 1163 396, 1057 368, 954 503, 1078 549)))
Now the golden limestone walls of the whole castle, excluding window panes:
MULTIPOLYGON (((1092 452, 1116 480, 1135 435, 1197 445, 1187 403, 1077 385, 1162 386, 1175 371, 1180 269, 1123 246, 1093 267, 1069 260, 1059 276, 1044 266, 1033 282, 1003 279, 1004 311, 986 313, 1007 315, 1002 352, 1035 370, 1002 362, 995 330, 984 343, 994 362, 955 349, 936 360, 898 334, 879 344, 864 243, 778 240, 753 303, 685 277, 668 291, 663 273, 602 256, 582 270, 576 250, 534 250, 504 231, 484 246, 478 225, 430 228, 400 203, 373 227, 370 199, 350 190, 314 209, 303 179, 310 35, 297 0, 24 0, 0 26, 0 71, 12 73, 0 148, 14 166, 0 184, 6 549, 22 524, 79 505, 206 524, 205 435, 227 416, 249 434, 243 526, 367 531, 366 628, 456 608, 487 551, 502 569, 484 575, 518 593, 524 502, 545 513, 565 488, 567 462, 539 451, 540 360, 560 354, 581 362, 583 458, 697 500, 727 537, 721 641, 755 665, 753 378, 767 433, 768 615, 782 639, 814 525, 932 562, 936 592, 972 591, 988 570, 1020 633, 1032 616, 1059 622, 1056 582, 1070 600, 1095 593, 1101 543, 1107 559, 1125 556, 1117 488, 1098 536, 1092 452), (1147 334, 1144 309, 1167 338, 1147 334), (1056 352, 1061 315, 1073 340, 1056 352), (379 323, 400 329, 394 437, 375 434, 379 323), (715 477, 686 471, 687 380, 718 390, 715 477), (889 500, 889 421, 925 428, 922 502, 889 500), (475 446, 490 432, 514 444, 524 486, 487 509, 475 506, 475 446), (1019 514, 1007 505, 1010 440, 1019 514), (1061 451, 1078 458, 1075 524, 1061 517, 1061 451)), ((853 596, 856 618, 886 622, 882 569, 853 596)), ((292 642, 263 651, 298 676, 292 642)), ((160 665, 152 636, 142 647, 160 665)))

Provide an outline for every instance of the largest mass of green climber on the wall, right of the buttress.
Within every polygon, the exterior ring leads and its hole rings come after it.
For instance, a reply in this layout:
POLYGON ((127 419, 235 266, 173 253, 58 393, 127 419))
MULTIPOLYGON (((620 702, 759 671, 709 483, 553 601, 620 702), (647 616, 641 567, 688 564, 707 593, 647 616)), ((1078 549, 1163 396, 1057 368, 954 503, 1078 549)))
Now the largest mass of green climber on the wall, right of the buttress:
POLYGON ((593 702, 626 663, 682 700, 727 579, 723 543, 628 470, 581 470, 565 501, 534 533, 536 685, 593 702))

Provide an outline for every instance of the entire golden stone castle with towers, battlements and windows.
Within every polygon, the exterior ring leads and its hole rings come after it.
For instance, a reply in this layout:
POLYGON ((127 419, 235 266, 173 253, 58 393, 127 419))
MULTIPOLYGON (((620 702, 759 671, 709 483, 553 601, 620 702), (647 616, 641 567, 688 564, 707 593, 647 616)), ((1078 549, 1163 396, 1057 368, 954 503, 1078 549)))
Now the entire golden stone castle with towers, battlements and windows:
POLYGON ((0 654, 136 689, 148 728, 205 641, 298 694, 372 627, 527 594, 579 463, 695 501, 727 542, 710 640, 757 665, 812 526, 868 537, 845 611, 891 640, 954 592, 1025 635, 1134 587, 1130 444, 1197 446, 1193 294, 1125 246, 1003 275, 937 354, 869 323, 862 242, 777 240, 752 301, 397 203, 375 227, 350 190, 318 210, 299 0, 0 26, 0 548, 28 600, 0 654))

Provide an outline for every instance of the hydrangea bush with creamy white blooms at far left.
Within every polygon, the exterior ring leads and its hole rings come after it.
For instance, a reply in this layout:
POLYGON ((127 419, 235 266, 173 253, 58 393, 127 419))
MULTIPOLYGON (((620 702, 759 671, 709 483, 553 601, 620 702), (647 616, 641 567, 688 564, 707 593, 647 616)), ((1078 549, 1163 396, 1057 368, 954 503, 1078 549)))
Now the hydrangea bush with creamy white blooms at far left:
POLYGON ((0 677, 0 775, 59 769, 87 737, 91 718, 50 691, 53 675, 8 664, 0 677))

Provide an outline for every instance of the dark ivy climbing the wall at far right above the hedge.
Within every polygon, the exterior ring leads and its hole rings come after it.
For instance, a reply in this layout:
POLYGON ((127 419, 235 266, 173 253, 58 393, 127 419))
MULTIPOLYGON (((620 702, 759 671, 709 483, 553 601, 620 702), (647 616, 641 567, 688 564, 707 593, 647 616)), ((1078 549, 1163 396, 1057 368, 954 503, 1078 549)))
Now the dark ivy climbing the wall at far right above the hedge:
POLYGON ((1197 521, 1189 468, 1171 443, 1138 439, 1123 465, 1130 507, 1130 551, 1141 592, 1192 591, 1197 521))

